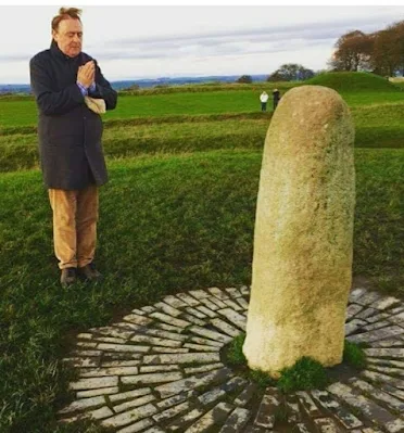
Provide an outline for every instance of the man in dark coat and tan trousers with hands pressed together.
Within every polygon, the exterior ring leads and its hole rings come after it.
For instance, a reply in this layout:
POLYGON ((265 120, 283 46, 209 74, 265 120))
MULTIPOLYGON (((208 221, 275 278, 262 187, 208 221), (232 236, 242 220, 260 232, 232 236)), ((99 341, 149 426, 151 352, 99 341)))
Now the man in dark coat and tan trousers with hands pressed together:
POLYGON ((53 211, 54 252, 61 283, 97 281, 98 187, 108 180, 100 112, 117 94, 97 62, 81 52, 81 11, 62 8, 52 20, 52 43, 29 63, 39 110, 39 153, 53 211))

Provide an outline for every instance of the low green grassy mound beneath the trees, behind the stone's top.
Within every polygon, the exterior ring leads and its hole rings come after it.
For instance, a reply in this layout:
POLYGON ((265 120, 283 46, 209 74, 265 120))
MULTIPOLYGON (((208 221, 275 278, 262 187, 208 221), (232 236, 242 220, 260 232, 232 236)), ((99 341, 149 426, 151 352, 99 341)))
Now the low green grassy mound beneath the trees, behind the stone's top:
POLYGON ((330 87, 338 92, 396 92, 397 87, 386 78, 369 73, 327 73, 306 81, 307 85, 330 87))

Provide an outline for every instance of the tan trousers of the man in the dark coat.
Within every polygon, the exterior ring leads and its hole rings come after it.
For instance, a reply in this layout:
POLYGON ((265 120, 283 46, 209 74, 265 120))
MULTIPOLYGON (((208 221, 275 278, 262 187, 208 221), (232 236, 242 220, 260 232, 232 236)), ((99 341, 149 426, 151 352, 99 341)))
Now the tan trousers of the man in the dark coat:
POLYGON ((53 211, 54 254, 59 268, 81 268, 96 253, 98 188, 84 190, 49 190, 53 211))

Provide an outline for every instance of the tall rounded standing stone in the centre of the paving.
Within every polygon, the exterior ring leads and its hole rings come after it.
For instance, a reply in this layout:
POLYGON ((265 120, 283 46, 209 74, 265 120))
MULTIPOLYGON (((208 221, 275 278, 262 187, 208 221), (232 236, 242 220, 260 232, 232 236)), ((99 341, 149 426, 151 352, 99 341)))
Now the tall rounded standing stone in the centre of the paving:
POLYGON ((273 377, 302 356, 340 364, 352 272, 354 126, 334 91, 287 92, 261 169, 243 353, 273 377))

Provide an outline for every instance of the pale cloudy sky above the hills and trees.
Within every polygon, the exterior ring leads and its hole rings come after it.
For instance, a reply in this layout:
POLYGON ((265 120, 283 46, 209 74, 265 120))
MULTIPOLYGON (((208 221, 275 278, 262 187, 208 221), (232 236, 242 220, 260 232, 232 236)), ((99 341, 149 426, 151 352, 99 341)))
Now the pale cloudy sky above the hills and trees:
MULTIPOLYGON (((404 20, 400 5, 68 5, 83 9, 83 51, 110 81, 269 75, 283 63, 324 69, 344 33, 404 20)), ((0 84, 29 82, 29 59, 49 48, 58 10, 0 4, 0 84)))

